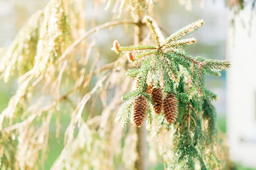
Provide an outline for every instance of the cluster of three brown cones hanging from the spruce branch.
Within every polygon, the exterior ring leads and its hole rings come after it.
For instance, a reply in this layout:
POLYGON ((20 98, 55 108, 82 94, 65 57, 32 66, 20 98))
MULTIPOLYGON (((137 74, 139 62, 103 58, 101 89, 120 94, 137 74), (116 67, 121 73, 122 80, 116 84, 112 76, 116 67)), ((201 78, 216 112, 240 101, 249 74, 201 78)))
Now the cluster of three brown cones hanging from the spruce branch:
MULTIPOLYGON (((163 110, 163 115, 169 124, 175 122, 177 117, 177 98, 174 94, 167 94, 163 99, 163 92, 160 88, 148 87, 148 94, 151 95, 154 102, 154 112, 160 114, 163 110)), ((134 99, 133 104, 133 122, 134 125, 140 127, 146 117, 146 111, 148 108, 148 100, 145 96, 137 96, 134 99)))

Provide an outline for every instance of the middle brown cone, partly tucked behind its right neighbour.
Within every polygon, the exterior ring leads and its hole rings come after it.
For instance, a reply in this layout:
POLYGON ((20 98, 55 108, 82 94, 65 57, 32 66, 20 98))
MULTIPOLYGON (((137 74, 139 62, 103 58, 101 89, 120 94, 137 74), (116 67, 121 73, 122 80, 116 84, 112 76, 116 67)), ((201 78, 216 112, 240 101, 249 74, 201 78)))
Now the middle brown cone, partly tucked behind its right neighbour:
POLYGON ((160 114, 163 107, 163 93, 160 88, 152 88, 151 91, 149 91, 149 94, 152 97, 152 100, 154 102, 154 112, 156 114, 160 114))

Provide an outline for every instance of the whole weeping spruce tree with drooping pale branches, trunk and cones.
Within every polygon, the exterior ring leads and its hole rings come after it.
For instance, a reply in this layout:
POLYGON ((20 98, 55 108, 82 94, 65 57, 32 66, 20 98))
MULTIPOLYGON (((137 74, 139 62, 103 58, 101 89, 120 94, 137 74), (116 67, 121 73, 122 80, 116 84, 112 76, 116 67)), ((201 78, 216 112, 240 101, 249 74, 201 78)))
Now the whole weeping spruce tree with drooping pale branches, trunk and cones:
POLYGON ((217 95, 205 87, 206 75, 220 76, 230 62, 185 51, 196 40, 182 38, 203 20, 167 39, 151 17, 141 21, 155 14, 158 2, 50 0, 10 47, 0 49, 5 52, 0 79, 17 79, 16 93, 0 113, 0 170, 47 169, 44 161, 49 159, 55 160, 52 170, 146 170, 159 161, 169 170, 233 167, 224 136, 216 129, 211 102, 217 95), (102 19, 100 2, 113 7, 114 21, 95 26, 102 19), (145 24, 151 40, 143 40, 145 24), (115 40, 112 49, 121 56, 102 65, 108 54, 97 43, 99 32, 115 26, 132 28, 134 43, 147 40, 147 45, 124 47, 115 40), (52 141, 62 140, 60 152, 52 141))

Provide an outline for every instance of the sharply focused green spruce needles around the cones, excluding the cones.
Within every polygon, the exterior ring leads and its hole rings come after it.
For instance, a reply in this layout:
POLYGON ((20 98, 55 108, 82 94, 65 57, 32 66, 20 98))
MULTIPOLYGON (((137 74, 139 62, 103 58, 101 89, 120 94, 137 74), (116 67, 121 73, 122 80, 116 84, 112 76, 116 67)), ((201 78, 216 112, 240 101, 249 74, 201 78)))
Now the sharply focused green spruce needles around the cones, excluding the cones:
MULTIPOLYGON (((116 116, 116 122, 126 125, 132 116, 134 99, 140 95, 145 96, 149 102, 149 111, 146 113, 149 130, 154 129, 156 136, 163 129, 174 132, 172 155, 168 155, 165 159, 168 168, 170 170, 192 170, 198 167, 201 170, 217 169, 220 167, 216 151, 219 139, 216 130, 216 112, 211 104, 211 100, 216 100, 217 96, 205 87, 205 77, 206 74, 219 76, 219 71, 229 68, 230 62, 193 57, 184 50, 185 47, 195 44, 196 40, 181 38, 200 28, 204 23, 203 20, 180 29, 166 40, 163 40, 157 24, 151 17, 146 16, 145 23, 154 45, 123 47, 115 41, 112 48, 117 54, 127 55, 129 61, 137 67, 126 72, 126 76, 135 79, 136 87, 122 96, 125 102, 116 116), (149 85, 161 88, 163 98, 168 94, 177 97, 178 113, 173 125, 164 119, 163 113, 154 115, 150 109, 155 104, 147 91, 149 85)), ((166 153, 163 152, 164 154, 166 153)))

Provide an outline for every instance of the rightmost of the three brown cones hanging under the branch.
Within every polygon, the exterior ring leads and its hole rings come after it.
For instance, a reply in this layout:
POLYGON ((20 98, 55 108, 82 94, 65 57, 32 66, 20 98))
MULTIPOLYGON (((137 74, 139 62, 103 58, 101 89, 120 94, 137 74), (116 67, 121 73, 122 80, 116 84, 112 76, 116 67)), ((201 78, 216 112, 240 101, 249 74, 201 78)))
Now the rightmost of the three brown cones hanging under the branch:
POLYGON ((168 94, 163 100, 163 114, 169 124, 175 122, 177 117, 177 99, 175 95, 168 94))

